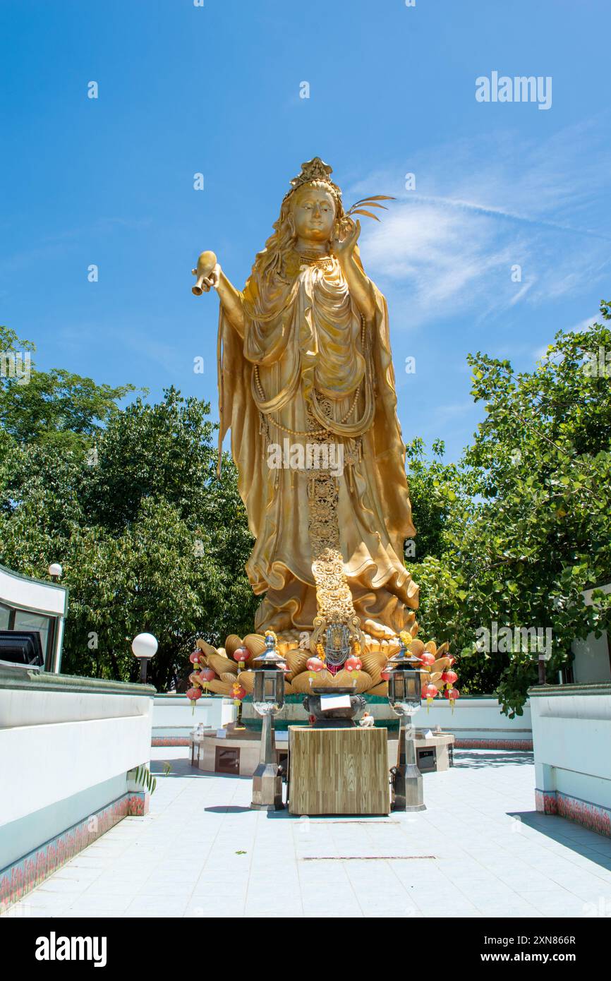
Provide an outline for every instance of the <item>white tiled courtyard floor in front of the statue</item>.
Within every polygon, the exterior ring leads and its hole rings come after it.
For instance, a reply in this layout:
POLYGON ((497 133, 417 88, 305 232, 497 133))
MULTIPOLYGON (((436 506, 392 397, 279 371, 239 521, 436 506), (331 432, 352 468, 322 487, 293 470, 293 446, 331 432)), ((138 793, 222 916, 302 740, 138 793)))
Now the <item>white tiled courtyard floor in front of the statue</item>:
POLYGON ((251 811, 251 781, 154 749, 129 817, 5 916, 611 916, 611 840, 534 810, 533 755, 461 750, 428 809, 387 818, 251 811))

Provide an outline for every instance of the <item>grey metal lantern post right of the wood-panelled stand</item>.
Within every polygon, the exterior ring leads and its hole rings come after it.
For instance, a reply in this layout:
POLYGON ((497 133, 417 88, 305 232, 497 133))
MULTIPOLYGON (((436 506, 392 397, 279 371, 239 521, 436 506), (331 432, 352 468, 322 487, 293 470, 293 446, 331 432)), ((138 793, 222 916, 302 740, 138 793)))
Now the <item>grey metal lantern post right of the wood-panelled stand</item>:
POLYGON ((388 701, 392 711, 399 716, 399 744, 397 764, 392 774, 392 810, 426 810, 423 795, 422 773, 416 763, 414 727, 412 716, 422 701, 421 671, 416 668, 420 661, 408 654, 401 642, 401 649, 388 661, 388 701))

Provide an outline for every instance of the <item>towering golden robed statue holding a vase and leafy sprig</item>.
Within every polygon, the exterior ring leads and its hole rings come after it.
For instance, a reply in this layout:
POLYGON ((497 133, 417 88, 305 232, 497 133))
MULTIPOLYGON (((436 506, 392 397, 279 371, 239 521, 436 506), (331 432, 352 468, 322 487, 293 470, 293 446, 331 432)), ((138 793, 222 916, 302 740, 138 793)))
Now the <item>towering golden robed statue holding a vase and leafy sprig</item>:
POLYGON ((346 213, 319 157, 290 183, 243 291, 212 252, 193 271, 193 292, 221 301, 220 445, 230 428, 256 538, 246 571, 266 594, 255 630, 294 638, 339 616, 355 638, 372 621, 395 636, 418 606, 415 531, 386 303, 351 217, 383 198, 346 213))

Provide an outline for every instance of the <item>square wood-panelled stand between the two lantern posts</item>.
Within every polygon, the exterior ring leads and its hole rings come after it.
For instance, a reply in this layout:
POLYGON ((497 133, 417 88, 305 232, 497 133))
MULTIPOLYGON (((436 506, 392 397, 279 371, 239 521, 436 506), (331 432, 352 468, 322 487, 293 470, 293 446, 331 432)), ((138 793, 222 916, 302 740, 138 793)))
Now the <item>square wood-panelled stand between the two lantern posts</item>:
POLYGON ((288 729, 291 814, 387 814, 385 729, 288 729))

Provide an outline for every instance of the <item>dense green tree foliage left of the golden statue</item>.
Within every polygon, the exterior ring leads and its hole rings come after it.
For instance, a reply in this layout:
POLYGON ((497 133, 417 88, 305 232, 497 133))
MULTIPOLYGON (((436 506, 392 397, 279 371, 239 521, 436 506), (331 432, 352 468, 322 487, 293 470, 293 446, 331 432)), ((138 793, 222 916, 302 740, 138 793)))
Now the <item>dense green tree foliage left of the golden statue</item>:
MULTIPOLYGON (((3 341, 25 349, 9 333, 3 341)), ((45 377, 34 369, 21 392, 5 380, 0 562, 39 578, 62 563, 65 672, 133 680, 130 641, 150 631, 159 641, 150 676, 165 690, 197 636, 220 644, 252 630, 252 538, 233 464, 225 454, 217 477, 216 426, 199 399, 170 388, 156 405, 137 398, 122 409, 117 400, 132 386, 70 376, 68 392, 45 377), (23 418, 20 406, 31 409, 23 418)))

